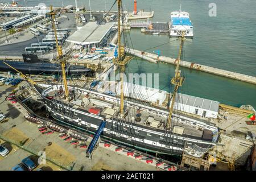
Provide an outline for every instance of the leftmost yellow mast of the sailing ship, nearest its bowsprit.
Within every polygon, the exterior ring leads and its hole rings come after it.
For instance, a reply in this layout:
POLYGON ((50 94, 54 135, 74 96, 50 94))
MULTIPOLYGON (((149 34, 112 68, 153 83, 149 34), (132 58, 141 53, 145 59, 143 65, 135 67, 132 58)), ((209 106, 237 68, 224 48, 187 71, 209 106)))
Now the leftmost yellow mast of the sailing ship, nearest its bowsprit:
POLYGON ((63 77, 63 82, 64 82, 64 87, 65 87, 65 96, 66 99, 69 99, 69 93, 68 93, 68 83, 67 83, 67 78, 66 78, 66 72, 65 72, 65 65, 66 61, 63 58, 63 52, 62 52, 62 47, 59 45, 58 39, 57 39, 57 31, 55 27, 55 12, 52 9, 51 5, 51 18, 52 18, 52 29, 54 30, 54 35, 55 35, 55 41, 56 41, 56 48, 57 48, 57 59, 60 60, 60 65, 61 65, 61 70, 62 70, 62 77, 63 77))

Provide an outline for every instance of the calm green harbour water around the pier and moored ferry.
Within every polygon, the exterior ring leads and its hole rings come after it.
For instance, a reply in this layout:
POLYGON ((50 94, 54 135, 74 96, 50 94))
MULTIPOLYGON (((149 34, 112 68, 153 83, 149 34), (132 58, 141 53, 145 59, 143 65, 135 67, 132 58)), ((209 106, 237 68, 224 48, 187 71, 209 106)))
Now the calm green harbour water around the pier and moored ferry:
MULTIPOLYGON (((8 1, 5 1, 8 2, 8 1)), ((75 5, 75 1, 27 1, 28 6, 40 2, 53 6, 75 5)), ((79 6, 89 9, 89 1, 77 0, 79 6)), ((93 0, 92 10, 109 10, 113 0, 93 0), (106 2, 106 4, 105 4, 106 2)), ((123 0, 126 10, 133 10, 133 1, 123 0)), ((154 10, 154 21, 168 22, 171 11, 188 11, 194 25, 195 38, 185 43, 185 60, 216 68, 256 76, 256 1, 255 0, 138 0, 138 9, 154 10), (208 15, 209 3, 216 3, 217 16, 208 15)), ((24 5, 23 1, 20 1, 24 5)), ((114 7, 116 10, 116 7, 114 7)), ((169 42, 168 36, 142 34, 140 30, 130 31, 135 49, 148 49, 169 42)), ((149 52, 160 49, 162 55, 177 57, 179 42, 171 42, 149 52)), ((159 88, 170 89, 170 78, 174 76, 174 66, 153 64, 143 60, 133 60, 127 72, 159 73, 159 88), (138 61, 138 64, 136 63, 138 61), (139 65, 139 66, 138 66, 139 65)), ((250 104, 256 108, 256 85, 231 80, 208 73, 183 69, 186 76, 182 93, 220 101, 224 104, 240 106, 250 104)))

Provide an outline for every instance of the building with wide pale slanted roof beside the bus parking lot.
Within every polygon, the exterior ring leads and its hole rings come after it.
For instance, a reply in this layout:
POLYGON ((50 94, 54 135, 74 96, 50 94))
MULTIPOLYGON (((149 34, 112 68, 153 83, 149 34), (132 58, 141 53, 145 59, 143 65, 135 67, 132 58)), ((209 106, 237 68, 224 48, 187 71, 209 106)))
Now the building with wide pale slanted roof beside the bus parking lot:
POLYGON ((108 43, 113 25, 114 23, 88 22, 71 35, 67 42, 88 48, 88 51, 92 47, 104 47, 108 43))

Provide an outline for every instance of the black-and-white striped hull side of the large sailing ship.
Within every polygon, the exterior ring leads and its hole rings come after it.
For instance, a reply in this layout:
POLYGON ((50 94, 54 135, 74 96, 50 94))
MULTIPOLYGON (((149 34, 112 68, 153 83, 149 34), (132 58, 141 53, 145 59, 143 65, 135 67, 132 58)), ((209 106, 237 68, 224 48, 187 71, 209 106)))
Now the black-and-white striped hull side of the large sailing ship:
MULTIPOLYGON (((97 127, 100 126, 100 123, 103 119, 100 119, 99 117, 95 118, 94 116, 90 117, 89 115, 86 115, 89 113, 86 113, 85 110, 79 108, 76 109, 76 111, 72 111, 72 107, 69 107, 69 105, 67 104, 63 104, 60 101, 48 100, 44 98, 44 102, 46 104, 49 114, 51 114, 51 116, 55 118, 57 121, 63 122, 73 127, 77 127, 83 131, 86 131, 87 133, 96 133, 97 127), (90 126, 84 125, 81 122, 76 122, 74 121, 74 119, 86 121, 86 123, 90 123, 90 126), (94 125, 94 127, 91 125, 94 125)), ((185 135, 183 135, 182 138, 178 136, 170 137, 170 132, 166 133, 166 131, 160 129, 150 128, 150 130, 154 131, 155 134, 151 133, 150 135, 148 135, 148 133, 145 131, 148 130, 148 126, 142 126, 136 123, 129 123, 129 129, 125 129, 125 127, 122 125, 124 123, 119 124, 117 125, 116 123, 113 124, 113 122, 106 122, 105 129, 108 129, 109 132, 104 131, 102 133, 102 137, 107 138, 109 140, 113 140, 114 142, 117 143, 121 143, 122 145, 138 148, 139 150, 158 152, 159 154, 168 155, 182 155, 186 143, 187 145, 197 144, 198 146, 204 148, 208 148, 209 146, 211 146, 211 144, 209 143, 191 141, 187 142, 185 138, 189 137, 185 135), (134 130, 134 127, 139 127, 144 131, 140 130, 138 133, 138 131, 134 130), (150 141, 152 144, 149 144, 148 141, 150 141), (163 145, 163 147, 159 145, 157 146, 156 143, 160 143, 161 145, 163 145)), ((200 138, 196 137, 194 139, 200 140, 200 138)))

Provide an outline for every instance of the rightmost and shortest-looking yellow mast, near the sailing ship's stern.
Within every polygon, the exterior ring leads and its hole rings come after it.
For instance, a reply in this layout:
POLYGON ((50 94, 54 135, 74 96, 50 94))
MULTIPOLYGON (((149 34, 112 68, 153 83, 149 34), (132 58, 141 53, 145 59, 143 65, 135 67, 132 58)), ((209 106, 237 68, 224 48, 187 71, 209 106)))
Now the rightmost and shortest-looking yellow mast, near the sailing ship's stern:
POLYGON ((184 42, 184 32, 182 32, 182 36, 181 36, 181 42, 180 42, 180 49, 179 49, 179 56, 177 58, 177 65, 176 65, 176 70, 175 70, 175 77, 172 78, 171 80, 171 84, 174 85, 174 94, 172 95, 172 101, 171 101, 171 107, 170 107, 170 113, 169 113, 169 117, 168 117, 168 121, 167 121, 167 125, 166 128, 168 130, 171 130, 171 124, 172 124, 172 113, 174 111, 174 104, 176 101, 176 96, 177 96, 177 91, 179 89, 180 86, 182 86, 183 81, 184 81, 184 77, 181 77, 180 73, 181 71, 179 70, 179 66, 180 66, 180 57, 181 57, 181 51, 182 51, 182 47, 183 47, 183 42, 184 42))

